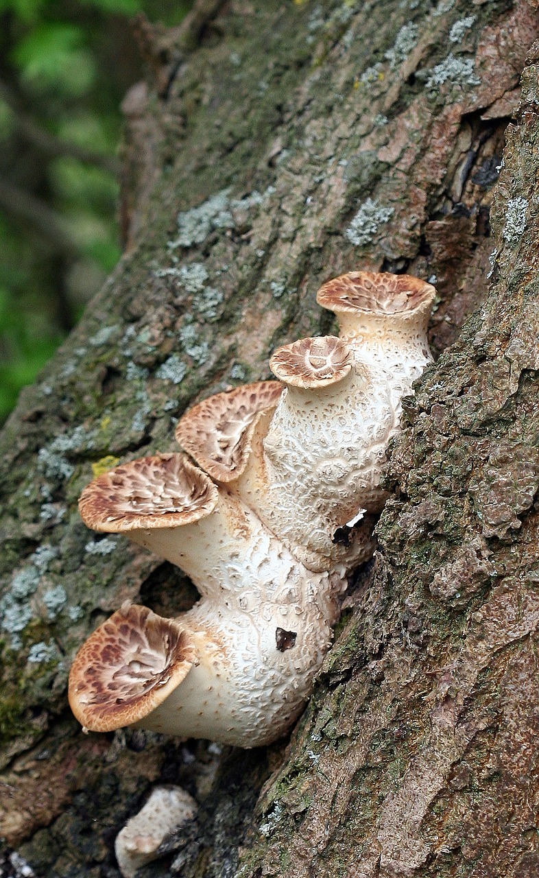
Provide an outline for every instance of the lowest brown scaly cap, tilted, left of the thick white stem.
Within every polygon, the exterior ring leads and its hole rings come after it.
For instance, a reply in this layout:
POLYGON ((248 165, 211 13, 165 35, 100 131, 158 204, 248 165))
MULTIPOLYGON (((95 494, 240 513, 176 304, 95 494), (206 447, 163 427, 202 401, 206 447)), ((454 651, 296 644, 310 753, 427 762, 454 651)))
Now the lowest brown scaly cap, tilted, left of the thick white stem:
POLYGON ((77 652, 69 673, 69 704, 91 731, 137 723, 198 664, 188 632, 136 604, 124 604, 77 652))

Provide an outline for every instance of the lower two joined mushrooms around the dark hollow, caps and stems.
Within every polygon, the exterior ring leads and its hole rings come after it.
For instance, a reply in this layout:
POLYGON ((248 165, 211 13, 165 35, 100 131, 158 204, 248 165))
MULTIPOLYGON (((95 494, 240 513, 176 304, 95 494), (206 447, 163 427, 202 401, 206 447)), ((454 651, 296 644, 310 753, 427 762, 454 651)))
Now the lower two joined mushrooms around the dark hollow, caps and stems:
POLYGON ((136 724, 244 747, 284 734, 331 643, 343 569, 306 569, 181 454, 121 464, 84 490, 80 507, 90 526, 124 531, 181 566, 202 595, 176 620, 122 608, 90 636, 69 680, 83 726, 136 724))

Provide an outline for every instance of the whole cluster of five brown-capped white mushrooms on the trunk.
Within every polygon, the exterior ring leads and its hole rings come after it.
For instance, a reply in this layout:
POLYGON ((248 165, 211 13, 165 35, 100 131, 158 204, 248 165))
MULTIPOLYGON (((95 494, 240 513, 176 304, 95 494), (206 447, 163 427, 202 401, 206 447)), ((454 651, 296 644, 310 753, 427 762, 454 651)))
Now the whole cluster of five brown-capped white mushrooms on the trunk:
POLYGON ((254 747, 291 726, 349 572, 373 551, 384 453, 431 359, 434 296, 406 275, 329 281, 318 301, 337 315, 338 338, 277 349, 278 381, 218 393, 183 416, 181 453, 121 464, 84 489, 90 528, 125 533, 200 594, 176 619, 126 604, 83 644, 69 702, 85 729, 254 747))

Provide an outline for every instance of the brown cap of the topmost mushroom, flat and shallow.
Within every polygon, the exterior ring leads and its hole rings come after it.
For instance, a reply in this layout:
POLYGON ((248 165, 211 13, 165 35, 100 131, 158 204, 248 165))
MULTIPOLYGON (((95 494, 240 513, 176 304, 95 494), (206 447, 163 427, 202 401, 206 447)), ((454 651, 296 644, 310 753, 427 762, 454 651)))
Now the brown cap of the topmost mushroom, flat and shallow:
POLYGON ((419 277, 350 271, 323 284, 316 300, 335 313, 406 316, 430 308, 435 294, 435 287, 419 277))

